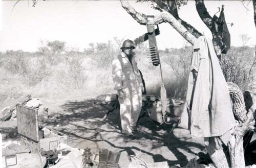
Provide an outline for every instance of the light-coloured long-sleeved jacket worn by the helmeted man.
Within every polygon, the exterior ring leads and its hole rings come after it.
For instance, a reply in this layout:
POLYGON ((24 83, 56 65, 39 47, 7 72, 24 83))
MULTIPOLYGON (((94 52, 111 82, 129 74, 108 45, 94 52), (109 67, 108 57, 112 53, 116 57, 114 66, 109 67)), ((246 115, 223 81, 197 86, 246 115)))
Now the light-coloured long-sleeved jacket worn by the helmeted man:
POLYGON ((125 97, 141 92, 143 83, 134 57, 131 64, 124 53, 119 54, 112 62, 112 77, 114 89, 122 89, 125 97))

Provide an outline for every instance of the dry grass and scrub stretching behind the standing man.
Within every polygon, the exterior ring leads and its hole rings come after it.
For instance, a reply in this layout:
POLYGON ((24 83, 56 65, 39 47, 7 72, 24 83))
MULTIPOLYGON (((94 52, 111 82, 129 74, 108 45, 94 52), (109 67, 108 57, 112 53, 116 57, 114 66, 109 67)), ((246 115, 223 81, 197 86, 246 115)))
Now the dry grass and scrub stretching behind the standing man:
MULTIPOLYGON (((50 63, 49 56, 44 54, 20 51, 2 53, 0 57, 0 81, 2 81, 0 94, 2 96, 0 99, 16 98, 22 94, 32 94, 33 97, 46 99, 77 97, 87 99, 100 94, 114 93, 111 62, 118 54, 119 47, 110 42, 103 45, 106 48, 100 46, 101 50, 90 54, 77 52, 59 54, 54 56, 54 59, 58 60, 57 63, 50 63)), ((137 51, 139 54, 136 55, 136 59, 146 83, 147 94, 159 95, 161 82, 159 66, 155 67, 149 63, 144 52, 141 52, 143 50, 137 51)), ((231 53, 244 58, 244 50, 236 48, 235 52, 231 53)), ((247 73, 247 67, 250 64, 248 60, 253 58, 253 54, 253 49, 246 48, 247 59, 239 59, 243 65, 248 65, 242 69, 243 74, 247 73)), ((168 52, 162 51, 160 57, 167 96, 184 99, 191 49, 186 47, 168 52)), ((227 57, 231 56, 227 55, 227 57)), ((240 72, 241 68, 243 67, 240 67, 240 72)))

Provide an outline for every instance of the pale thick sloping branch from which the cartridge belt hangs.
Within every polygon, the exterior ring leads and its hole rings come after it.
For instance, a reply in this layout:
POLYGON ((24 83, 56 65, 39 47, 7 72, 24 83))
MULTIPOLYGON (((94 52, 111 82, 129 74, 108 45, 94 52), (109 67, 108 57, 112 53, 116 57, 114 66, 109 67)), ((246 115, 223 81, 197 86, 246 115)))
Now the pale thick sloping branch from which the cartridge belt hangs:
MULTIPOLYGON (((147 16, 137 12, 130 4, 126 1, 120 0, 122 7, 129 13, 140 25, 146 25, 147 16)), ((181 23, 170 13, 163 10, 161 14, 155 16, 155 25, 162 22, 168 22, 175 30, 177 30, 189 43, 192 45, 195 43, 196 37, 192 35, 181 23)))

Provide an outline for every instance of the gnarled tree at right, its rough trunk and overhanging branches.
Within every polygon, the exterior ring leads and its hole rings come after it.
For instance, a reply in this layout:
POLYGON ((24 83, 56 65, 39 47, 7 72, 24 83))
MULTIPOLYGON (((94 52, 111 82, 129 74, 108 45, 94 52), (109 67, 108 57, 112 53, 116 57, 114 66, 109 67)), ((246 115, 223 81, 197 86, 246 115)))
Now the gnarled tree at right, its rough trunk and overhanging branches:
MULTIPOLYGON (((147 1, 147 0, 139 0, 139 1, 147 1)), ((140 25, 146 25, 147 23, 147 16, 143 13, 140 13, 136 11, 128 2, 120 0, 121 5, 124 10, 126 10, 127 13, 129 13, 140 25)), ((186 21, 182 20, 179 17, 177 5, 180 5, 181 1, 151 1, 153 3, 153 7, 160 11, 160 14, 155 16, 155 25, 158 25, 162 22, 169 23, 170 26, 172 26, 177 32, 179 32, 189 43, 192 45, 195 43, 196 38, 201 36, 202 34, 197 31, 194 27, 189 25, 186 21)), ((255 1, 253 1, 254 6, 254 19, 255 19, 255 1)), ((207 9, 204 5, 204 1, 199 0, 196 1, 196 9, 197 12, 204 22, 204 24, 207 26, 207 28, 211 31, 212 34, 212 43, 215 47, 215 52, 220 59, 221 52, 222 52, 222 31, 221 28, 223 26, 223 20, 220 20, 216 15, 211 17, 209 13, 207 12, 207 9)), ((224 6, 222 6, 222 14, 224 16, 224 6)), ((223 17, 224 18, 224 17, 223 17)), ((256 56, 254 59, 254 62, 256 60, 256 56)), ((250 73, 250 88, 251 93, 253 93, 254 102, 256 98, 256 82, 255 82, 255 76, 256 76, 256 64, 252 64, 251 73, 250 73)), ((232 102, 234 106, 233 112, 234 115, 239 111, 239 114, 246 115, 245 110, 245 103, 241 96, 241 90, 238 87, 235 87, 232 83, 229 83, 229 91, 230 91, 230 97, 232 99, 232 102), (241 112, 241 113, 240 113, 241 112)), ((253 104, 253 103, 252 103, 253 104)), ((254 103, 255 104, 255 103, 254 103)), ((241 157, 243 155, 243 136, 246 131, 251 130, 254 125, 253 116, 252 113, 248 113, 247 117, 244 117, 243 123, 241 123, 242 127, 237 128, 235 130, 237 136, 233 140, 230 140, 229 142, 229 154, 230 154, 230 161, 232 167, 245 167, 244 157, 241 157)), ((222 154, 223 155, 223 154, 222 154)), ((222 156, 218 156, 222 157, 222 156)), ((225 155, 223 156, 225 158, 225 155)), ((218 158, 212 158, 215 163, 215 165, 223 165, 221 163, 221 160, 218 158)))

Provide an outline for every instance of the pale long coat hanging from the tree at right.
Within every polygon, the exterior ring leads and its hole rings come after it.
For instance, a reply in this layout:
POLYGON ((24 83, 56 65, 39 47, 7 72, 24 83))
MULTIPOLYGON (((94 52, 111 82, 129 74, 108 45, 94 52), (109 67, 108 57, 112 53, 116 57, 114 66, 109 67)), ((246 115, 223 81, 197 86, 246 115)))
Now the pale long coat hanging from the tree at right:
POLYGON ((228 86, 222 73, 214 45, 200 36, 194 44, 187 97, 179 126, 190 130, 193 136, 222 136, 235 120, 228 86), (193 69, 198 72, 193 78, 193 69))

